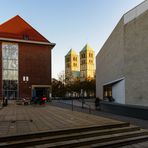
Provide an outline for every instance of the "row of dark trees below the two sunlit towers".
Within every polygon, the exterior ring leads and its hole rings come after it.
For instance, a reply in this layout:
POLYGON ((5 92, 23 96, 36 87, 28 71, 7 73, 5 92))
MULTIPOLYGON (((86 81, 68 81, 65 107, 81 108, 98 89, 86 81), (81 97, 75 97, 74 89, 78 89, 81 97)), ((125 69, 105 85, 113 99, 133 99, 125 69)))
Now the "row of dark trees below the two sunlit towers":
POLYGON ((69 74, 69 77, 65 79, 64 71, 58 75, 58 80, 53 79, 52 81, 52 95, 53 97, 65 97, 66 94, 77 94, 81 95, 81 90, 87 93, 87 96, 95 96, 96 94, 96 80, 95 78, 88 78, 85 81, 80 81, 79 78, 73 77, 69 74))

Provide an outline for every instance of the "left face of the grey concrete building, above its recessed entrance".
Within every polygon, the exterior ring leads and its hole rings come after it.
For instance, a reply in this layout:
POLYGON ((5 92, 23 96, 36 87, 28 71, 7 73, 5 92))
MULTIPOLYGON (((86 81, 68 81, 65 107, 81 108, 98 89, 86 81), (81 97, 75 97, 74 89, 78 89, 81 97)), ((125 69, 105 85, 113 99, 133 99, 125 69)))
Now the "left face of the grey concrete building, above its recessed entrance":
POLYGON ((103 84, 124 77, 123 18, 96 57, 96 96, 103 98, 103 84))

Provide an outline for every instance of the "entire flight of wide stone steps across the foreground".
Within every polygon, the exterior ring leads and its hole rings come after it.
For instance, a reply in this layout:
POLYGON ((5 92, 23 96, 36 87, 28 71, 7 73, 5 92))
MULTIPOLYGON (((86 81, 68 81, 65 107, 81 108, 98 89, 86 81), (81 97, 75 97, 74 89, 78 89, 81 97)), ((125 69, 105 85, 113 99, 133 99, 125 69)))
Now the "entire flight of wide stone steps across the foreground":
POLYGON ((119 123, 0 137, 0 148, 115 148, 145 141, 148 130, 119 123))

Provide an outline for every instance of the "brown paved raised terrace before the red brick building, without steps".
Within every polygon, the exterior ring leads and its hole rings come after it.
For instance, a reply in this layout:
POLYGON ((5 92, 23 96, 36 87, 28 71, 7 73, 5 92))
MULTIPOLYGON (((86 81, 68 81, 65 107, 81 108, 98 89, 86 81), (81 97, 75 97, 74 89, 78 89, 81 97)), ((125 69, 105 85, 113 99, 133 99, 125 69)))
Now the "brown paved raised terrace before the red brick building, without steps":
POLYGON ((120 121, 46 105, 17 105, 0 109, 0 136, 121 123, 120 121))

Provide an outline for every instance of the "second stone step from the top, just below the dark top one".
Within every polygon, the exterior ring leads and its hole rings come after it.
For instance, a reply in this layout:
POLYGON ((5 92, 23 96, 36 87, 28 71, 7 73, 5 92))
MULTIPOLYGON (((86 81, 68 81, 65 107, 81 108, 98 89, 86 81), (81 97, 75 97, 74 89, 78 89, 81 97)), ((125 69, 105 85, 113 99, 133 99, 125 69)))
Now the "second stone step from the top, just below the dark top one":
POLYGON ((87 143, 87 140, 90 142, 91 141, 93 142, 94 139, 96 139, 96 137, 105 139, 108 137, 108 135, 110 137, 110 135, 118 135, 118 134, 124 134, 124 133, 127 134, 131 132, 135 132, 135 134, 137 134, 138 131, 140 131, 140 128, 136 126, 111 128, 111 129, 105 129, 105 130, 86 131, 86 132, 56 135, 56 136, 51 136, 51 137, 49 136, 49 137, 26 139, 26 140, 19 140, 19 141, 2 142, 0 147, 3 147, 3 148, 4 147, 7 147, 7 148, 26 147, 26 146, 34 146, 34 145, 43 145, 46 143, 48 144, 48 147, 53 147, 55 145, 59 145, 59 147, 60 146, 62 147, 70 146, 71 147, 73 146, 73 144, 74 145, 76 144, 78 146, 79 142, 81 143, 81 145, 84 145, 85 143, 87 143))

